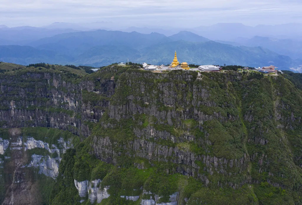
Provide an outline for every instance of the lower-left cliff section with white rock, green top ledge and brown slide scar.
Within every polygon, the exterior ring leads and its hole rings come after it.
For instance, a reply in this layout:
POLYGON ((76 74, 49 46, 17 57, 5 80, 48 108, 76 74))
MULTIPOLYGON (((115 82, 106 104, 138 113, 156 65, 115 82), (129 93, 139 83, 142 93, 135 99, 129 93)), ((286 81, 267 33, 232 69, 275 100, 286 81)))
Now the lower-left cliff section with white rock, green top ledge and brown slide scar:
POLYGON ((3 157, 0 168, 2 169, 1 181, 5 189, 1 195, 2 204, 45 202, 41 196, 49 193, 41 189, 46 184, 41 184, 42 181, 38 179, 46 176, 49 178, 46 182, 53 184, 53 179, 56 179, 59 174, 59 163, 63 154, 72 147, 73 137, 63 139, 62 131, 37 129, 11 128, 2 130, 0 134, 0 146, 3 149, 1 150, 3 157), (44 140, 40 140, 43 137, 37 136, 37 133, 45 134, 44 140), (58 138, 54 134, 59 134, 61 137, 58 138), (48 143, 50 141, 55 144, 48 143))

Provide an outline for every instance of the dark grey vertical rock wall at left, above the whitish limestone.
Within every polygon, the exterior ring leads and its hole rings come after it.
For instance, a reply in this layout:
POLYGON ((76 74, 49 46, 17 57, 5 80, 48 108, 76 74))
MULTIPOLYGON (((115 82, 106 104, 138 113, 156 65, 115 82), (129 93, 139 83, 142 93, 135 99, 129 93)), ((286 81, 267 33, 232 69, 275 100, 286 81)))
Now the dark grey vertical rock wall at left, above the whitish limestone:
POLYGON ((0 79, 1 103, 6 107, 0 110, 2 128, 52 127, 88 136, 89 129, 82 121, 101 117, 98 110, 90 114, 95 108, 89 102, 82 103, 83 87, 92 90, 89 82, 73 84, 53 73, 22 74, 18 84, 15 78, 0 79))

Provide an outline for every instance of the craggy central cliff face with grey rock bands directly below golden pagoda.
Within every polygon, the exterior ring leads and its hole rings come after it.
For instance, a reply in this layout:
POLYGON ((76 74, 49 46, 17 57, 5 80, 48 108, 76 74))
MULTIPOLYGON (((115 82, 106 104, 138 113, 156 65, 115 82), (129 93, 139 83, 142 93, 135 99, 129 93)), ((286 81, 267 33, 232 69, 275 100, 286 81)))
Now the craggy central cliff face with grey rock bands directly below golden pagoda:
MULTIPOLYGON (((239 78, 235 76, 234 80, 239 78)), ((241 174, 247 170, 249 159, 242 147, 246 139, 242 136, 234 98, 231 90, 223 90, 211 80, 202 80, 197 73, 126 72, 119 76, 105 113, 110 120, 103 118, 101 126, 92 132, 95 154, 113 164, 117 163, 120 154, 145 158, 151 163, 172 162, 175 165, 170 170, 172 173, 194 176, 205 182, 207 176, 202 172, 226 176, 241 174), (224 95, 224 99, 215 99, 217 94, 224 95), (226 123, 232 124, 230 128, 224 126, 226 123), (115 139, 120 138, 119 134, 107 131, 119 126, 130 127, 131 136, 123 143, 115 139), (217 143, 216 149, 211 149, 211 133, 220 128, 226 132, 225 143, 234 140, 234 144, 223 147, 217 143), (199 149, 198 152, 193 151, 192 145, 199 149), (117 151, 121 146, 124 150, 117 151), (225 150, 221 151, 223 148, 225 150), (232 169, 236 171, 232 173, 232 169)), ((249 178, 227 183, 236 187, 246 181, 249 178)))

